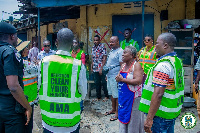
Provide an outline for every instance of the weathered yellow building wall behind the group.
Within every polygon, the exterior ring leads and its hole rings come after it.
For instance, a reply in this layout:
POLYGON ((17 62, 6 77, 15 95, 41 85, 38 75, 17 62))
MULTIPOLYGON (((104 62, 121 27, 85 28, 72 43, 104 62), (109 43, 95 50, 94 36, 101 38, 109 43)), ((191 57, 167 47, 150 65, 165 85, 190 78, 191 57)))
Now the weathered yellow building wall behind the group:
MULTIPOLYGON (((91 47, 93 46, 93 36, 95 35, 94 31, 97 30, 102 35, 105 31, 109 30, 105 36, 105 40, 109 42, 109 38, 112 36, 112 16, 142 14, 142 7, 134 7, 136 5, 130 2, 131 8, 124 8, 124 3, 81 6, 79 19, 67 19, 60 22, 68 22, 68 28, 74 32, 80 41, 85 43, 84 50, 90 54, 91 47)), ((168 20, 162 21, 163 28, 170 21, 195 18, 195 0, 173 0, 171 3, 170 0, 151 0, 146 1, 145 5, 145 13, 154 14, 155 39, 161 33, 159 13, 161 10, 168 10, 168 20)), ((31 40, 35 36, 34 31, 27 31, 28 40, 31 40)), ((166 31, 162 29, 162 32, 166 31)), ((50 33, 53 33, 53 24, 41 26, 41 42, 50 33)), ((102 40, 102 43, 105 43, 105 41, 102 40)))

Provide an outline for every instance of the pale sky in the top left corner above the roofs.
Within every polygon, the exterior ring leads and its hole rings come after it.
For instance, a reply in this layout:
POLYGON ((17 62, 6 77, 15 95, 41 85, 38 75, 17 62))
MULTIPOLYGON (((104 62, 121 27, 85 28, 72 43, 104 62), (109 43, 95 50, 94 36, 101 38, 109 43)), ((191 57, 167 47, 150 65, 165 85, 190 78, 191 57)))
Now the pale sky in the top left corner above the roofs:
POLYGON ((22 4, 18 3, 17 0, 0 0, 0 21, 2 20, 2 18, 3 20, 8 19, 9 16, 13 16, 13 18, 19 19, 19 14, 13 14, 14 11, 19 11, 18 5, 22 6, 22 4), (2 13, 2 11, 7 13, 2 13))

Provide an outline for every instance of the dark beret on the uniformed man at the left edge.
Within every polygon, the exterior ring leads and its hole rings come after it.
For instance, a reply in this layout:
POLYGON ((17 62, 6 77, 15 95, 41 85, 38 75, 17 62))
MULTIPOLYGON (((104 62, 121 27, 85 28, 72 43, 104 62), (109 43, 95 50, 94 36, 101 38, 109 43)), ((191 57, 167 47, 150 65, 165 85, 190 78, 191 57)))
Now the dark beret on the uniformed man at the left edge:
POLYGON ((15 34, 17 33, 16 28, 6 22, 0 22, 0 34, 15 34))

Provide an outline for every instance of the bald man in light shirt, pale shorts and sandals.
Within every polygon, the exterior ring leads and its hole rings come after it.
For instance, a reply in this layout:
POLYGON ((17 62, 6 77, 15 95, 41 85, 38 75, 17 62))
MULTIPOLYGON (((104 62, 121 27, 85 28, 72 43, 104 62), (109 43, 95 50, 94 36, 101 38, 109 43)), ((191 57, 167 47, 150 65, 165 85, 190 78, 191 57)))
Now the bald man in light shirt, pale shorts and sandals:
POLYGON ((123 63, 123 49, 119 45, 119 38, 117 36, 110 38, 110 47, 112 50, 108 55, 106 66, 109 68, 107 74, 107 89, 108 94, 111 95, 112 110, 106 112, 105 115, 115 114, 110 119, 110 121, 115 121, 118 119, 118 85, 115 77, 119 73, 120 66, 123 63))

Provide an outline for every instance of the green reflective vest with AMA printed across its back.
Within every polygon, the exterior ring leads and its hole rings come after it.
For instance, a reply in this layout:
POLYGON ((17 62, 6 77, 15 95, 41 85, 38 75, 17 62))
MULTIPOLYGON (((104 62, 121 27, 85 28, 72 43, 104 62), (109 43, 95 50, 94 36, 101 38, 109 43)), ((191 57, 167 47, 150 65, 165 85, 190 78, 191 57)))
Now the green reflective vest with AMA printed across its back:
POLYGON ((51 55, 42 60, 39 98, 46 124, 72 127, 80 121, 80 69, 81 61, 70 56, 51 55))

